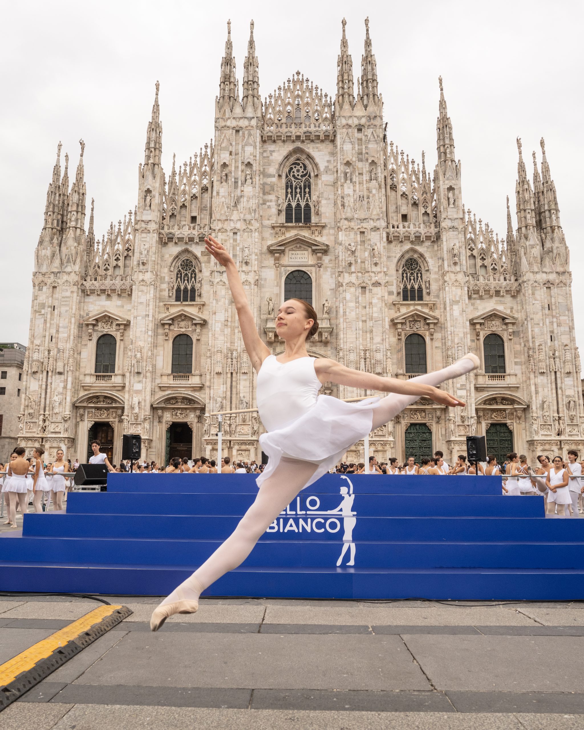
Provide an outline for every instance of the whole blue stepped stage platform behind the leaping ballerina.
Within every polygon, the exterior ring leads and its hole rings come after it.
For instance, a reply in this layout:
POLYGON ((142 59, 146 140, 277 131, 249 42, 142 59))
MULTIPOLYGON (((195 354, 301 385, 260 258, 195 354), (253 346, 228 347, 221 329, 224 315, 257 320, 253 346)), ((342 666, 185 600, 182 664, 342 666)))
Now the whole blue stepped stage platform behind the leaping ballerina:
MULTIPOLYGON (((328 599, 584 599, 584 519, 498 477, 339 475, 302 492, 239 569, 205 595, 328 599), (352 531, 352 534, 351 534, 352 531), (341 564, 337 561, 347 545, 341 564), (354 565, 347 565, 351 554, 354 565)), ((163 595, 234 529, 252 475, 111 474, 67 512, 0 535, 0 590, 163 595)))

